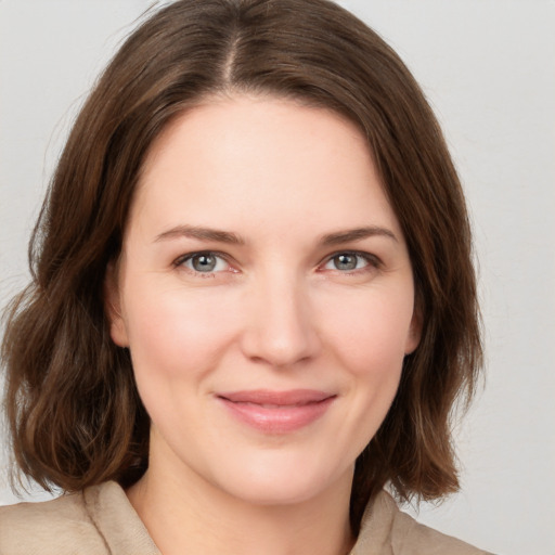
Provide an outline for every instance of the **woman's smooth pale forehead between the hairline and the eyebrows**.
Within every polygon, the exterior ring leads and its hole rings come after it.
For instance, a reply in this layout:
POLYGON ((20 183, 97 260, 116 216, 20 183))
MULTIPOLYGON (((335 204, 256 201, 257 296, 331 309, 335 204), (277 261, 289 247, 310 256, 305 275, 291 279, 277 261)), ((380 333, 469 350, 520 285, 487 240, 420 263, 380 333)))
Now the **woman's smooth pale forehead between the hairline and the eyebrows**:
POLYGON ((358 127, 272 96, 209 99, 176 118, 145 160, 132 216, 138 208, 176 224, 191 217, 298 224, 320 216, 364 225, 373 214, 384 221, 371 223, 397 225, 358 127))

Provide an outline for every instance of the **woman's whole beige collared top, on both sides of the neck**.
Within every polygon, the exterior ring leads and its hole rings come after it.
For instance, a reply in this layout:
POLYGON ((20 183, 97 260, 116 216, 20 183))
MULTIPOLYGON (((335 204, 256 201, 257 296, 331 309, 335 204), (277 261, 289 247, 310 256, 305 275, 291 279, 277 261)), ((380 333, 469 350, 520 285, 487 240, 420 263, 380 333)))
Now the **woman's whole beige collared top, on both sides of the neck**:
MULTIPOLYGON (((420 525, 382 492, 366 508, 350 555, 479 555, 420 525)), ((0 507, 0 555, 160 555, 116 482, 42 503, 0 507)))

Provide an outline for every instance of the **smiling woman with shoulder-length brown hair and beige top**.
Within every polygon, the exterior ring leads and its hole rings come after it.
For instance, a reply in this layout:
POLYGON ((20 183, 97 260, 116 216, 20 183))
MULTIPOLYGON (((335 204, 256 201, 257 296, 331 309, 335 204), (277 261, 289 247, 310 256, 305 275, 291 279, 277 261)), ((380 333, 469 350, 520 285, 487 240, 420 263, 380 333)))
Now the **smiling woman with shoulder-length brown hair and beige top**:
POLYGON ((0 553, 480 553, 459 487, 470 233, 398 56, 324 0, 178 1, 74 126, 3 341, 0 553))

